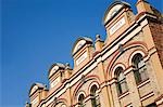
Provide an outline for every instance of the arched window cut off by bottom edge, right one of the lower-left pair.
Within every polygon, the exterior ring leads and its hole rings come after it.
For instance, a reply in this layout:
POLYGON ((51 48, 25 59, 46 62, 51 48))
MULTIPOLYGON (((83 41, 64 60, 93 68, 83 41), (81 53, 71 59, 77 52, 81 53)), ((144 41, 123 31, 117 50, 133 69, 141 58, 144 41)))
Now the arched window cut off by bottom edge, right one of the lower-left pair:
POLYGON ((93 84, 90 89, 92 107, 100 107, 100 99, 99 99, 99 95, 97 95, 97 90, 98 90, 98 88, 96 84, 93 84))

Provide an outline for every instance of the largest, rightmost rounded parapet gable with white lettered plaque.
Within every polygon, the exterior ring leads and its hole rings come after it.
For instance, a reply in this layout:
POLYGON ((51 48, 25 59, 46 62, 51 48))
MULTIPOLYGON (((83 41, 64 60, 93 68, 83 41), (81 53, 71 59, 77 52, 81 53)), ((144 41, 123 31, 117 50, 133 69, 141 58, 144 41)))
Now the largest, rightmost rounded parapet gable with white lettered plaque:
POLYGON ((104 13, 103 25, 106 29, 106 44, 115 41, 134 21, 131 6, 124 1, 113 2, 104 13))

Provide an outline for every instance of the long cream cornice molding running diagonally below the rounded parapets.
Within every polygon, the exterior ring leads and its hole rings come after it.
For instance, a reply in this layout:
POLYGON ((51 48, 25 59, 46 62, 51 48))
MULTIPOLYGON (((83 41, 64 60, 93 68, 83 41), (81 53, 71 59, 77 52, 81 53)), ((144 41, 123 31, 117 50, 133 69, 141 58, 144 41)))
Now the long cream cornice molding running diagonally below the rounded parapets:
MULTIPOLYGON (((141 24, 138 25, 138 23, 141 19, 137 21, 137 23, 134 23, 125 32, 123 32, 120 38, 117 38, 113 43, 106 45, 104 49, 102 49, 101 53, 98 53, 86 66, 80 68, 76 73, 74 73, 67 81, 65 81, 64 84, 62 84, 57 91, 52 92, 51 95, 47 97, 46 106, 48 106, 52 101, 53 97, 59 97, 62 95, 68 88, 73 86, 76 82, 78 82, 83 75, 89 73, 92 69, 97 67, 97 65, 100 62, 105 61, 109 56, 111 56, 116 50, 118 50, 117 43, 125 44, 127 41, 129 41, 133 37, 135 37, 139 31, 141 31, 141 28, 148 24, 147 19, 141 21, 141 24), (137 27, 137 28, 136 28, 137 27), (52 98, 51 98, 52 97, 52 98)), ((111 84, 111 82, 109 82, 111 84)), ((101 84, 102 86, 106 85, 101 84)))

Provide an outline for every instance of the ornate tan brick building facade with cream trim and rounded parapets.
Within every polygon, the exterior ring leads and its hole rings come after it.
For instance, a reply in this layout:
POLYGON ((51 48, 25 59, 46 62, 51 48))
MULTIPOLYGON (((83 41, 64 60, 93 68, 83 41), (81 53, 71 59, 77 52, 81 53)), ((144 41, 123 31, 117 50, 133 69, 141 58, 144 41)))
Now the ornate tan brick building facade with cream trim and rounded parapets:
POLYGON ((105 11, 106 39, 82 37, 72 49, 74 67, 55 63, 50 88, 34 83, 26 107, 163 107, 163 18, 138 0, 105 11))

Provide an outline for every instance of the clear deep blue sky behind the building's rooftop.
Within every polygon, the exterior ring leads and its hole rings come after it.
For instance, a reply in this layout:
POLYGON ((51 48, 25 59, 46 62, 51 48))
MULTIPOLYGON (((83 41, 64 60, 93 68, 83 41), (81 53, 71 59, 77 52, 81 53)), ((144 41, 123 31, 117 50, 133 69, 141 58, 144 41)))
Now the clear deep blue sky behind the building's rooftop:
MULTIPOLYGON (((105 39, 102 17, 112 1, 2 0, 0 107, 24 107, 34 82, 48 84, 53 63, 73 66, 71 51, 78 37, 95 40, 100 34, 105 39)), ((148 1, 163 12, 162 0, 148 1)))

